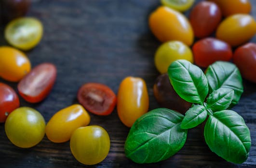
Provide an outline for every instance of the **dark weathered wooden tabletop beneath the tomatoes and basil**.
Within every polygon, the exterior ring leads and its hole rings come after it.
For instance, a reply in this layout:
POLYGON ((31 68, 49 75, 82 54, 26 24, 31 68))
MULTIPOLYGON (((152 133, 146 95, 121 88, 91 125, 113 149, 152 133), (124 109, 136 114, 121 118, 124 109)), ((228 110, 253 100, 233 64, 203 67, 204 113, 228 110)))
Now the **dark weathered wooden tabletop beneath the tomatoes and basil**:
MULTIPOLYGON (((256 0, 251 0, 256 18, 256 0)), ((26 52, 32 66, 52 62, 57 80, 51 94, 41 103, 21 106, 36 108, 46 122, 58 110, 78 103, 79 87, 87 82, 108 85, 117 93, 126 76, 142 77, 148 86, 149 110, 159 105, 153 96, 153 84, 159 75, 154 52, 161 44, 149 31, 148 15, 159 0, 33 0, 29 16, 44 25, 40 44, 26 52)), ((186 12, 187 14, 189 12, 186 12)), ((0 45, 7 45, 0 27, 0 45)), ((251 41, 256 42, 254 37, 251 41)), ((10 84, 15 90, 17 84, 10 84)), ((256 84, 246 80, 237 111, 245 119, 252 138, 250 155, 241 165, 229 163, 212 153, 203 141, 200 127, 189 130, 184 147, 171 158, 155 164, 136 164, 125 157, 124 142, 129 132, 116 109, 109 116, 91 115, 90 125, 104 127, 110 136, 107 158, 94 166, 80 164, 71 154, 69 142, 54 144, 46 136, 40 144, 22 149, 6 137, 0 124, 0 168, 251 168, 256 167, 256 84)))

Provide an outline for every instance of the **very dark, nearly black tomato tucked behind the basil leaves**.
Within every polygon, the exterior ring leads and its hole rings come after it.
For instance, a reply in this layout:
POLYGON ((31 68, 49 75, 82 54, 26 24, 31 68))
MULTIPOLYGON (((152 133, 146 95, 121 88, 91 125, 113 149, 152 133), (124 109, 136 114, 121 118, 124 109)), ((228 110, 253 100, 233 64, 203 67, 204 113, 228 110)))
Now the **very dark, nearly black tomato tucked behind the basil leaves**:
POLYGON ((163 73, 157 77, 154 84, 154 96, 161 107, 173 109, 183 114, 185 114, 192 105, 178 96, 170 83, 167 73, 163 73))

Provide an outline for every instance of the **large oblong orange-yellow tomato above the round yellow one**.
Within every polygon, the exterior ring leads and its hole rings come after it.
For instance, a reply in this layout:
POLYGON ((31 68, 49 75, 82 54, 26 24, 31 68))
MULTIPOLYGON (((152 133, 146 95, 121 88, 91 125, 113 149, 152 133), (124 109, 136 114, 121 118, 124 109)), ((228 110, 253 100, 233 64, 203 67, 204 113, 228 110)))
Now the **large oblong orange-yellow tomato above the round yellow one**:
POLYGON ((166 6, 161 6, 150 14, 149 27, 162 42, 178 40, 190 46, 194 40, 194 33, 187 18, 166 6))

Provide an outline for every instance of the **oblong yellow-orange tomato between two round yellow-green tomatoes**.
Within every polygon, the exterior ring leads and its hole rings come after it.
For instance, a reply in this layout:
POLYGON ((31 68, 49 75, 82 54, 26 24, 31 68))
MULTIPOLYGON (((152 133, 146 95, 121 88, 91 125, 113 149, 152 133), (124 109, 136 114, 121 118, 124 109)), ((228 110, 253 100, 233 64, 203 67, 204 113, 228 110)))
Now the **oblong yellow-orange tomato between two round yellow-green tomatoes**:
POLYGON ((70 139, 71 134, 79 127, 90 123, 90 116, 79 104, 63 108, 49 120, 45 133, 54 143, 63 143, 70 139))

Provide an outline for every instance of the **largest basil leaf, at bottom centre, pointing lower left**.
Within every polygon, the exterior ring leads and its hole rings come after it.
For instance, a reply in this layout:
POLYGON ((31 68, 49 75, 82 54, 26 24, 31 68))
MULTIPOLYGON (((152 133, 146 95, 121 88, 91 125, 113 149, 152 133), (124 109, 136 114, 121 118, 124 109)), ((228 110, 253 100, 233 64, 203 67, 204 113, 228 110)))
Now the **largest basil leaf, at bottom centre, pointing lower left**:
POLYGON ((167 159, 185 144, 188 130, 180 128, 184 116, 174 110, 157 108, 133 124, 125 141, 125 155, 136 163, 167 159))

